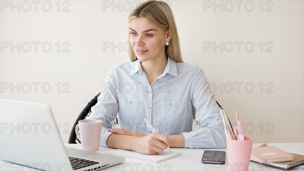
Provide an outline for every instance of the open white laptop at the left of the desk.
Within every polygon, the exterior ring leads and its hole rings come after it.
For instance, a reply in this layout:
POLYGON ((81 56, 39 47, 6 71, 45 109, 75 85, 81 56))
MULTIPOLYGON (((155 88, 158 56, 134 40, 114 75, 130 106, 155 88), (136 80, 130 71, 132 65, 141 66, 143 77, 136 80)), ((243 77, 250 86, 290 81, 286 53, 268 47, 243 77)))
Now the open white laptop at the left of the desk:
POLYGON ((100 170, 125 158, 64 147, 50 106, 0 99, 1 159, 42 170, 100 170))

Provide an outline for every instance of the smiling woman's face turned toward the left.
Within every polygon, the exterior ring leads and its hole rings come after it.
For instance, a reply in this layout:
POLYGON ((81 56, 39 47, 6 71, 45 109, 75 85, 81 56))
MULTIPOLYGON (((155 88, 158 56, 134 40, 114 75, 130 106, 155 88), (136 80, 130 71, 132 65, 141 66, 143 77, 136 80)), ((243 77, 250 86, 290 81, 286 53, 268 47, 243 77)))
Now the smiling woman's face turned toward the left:
POLYGON ((130 21, 130 42, 137 59, 141 62, 166 57, 165 43, 170 37, 163 28, 145 18, 136 17, 130 21))

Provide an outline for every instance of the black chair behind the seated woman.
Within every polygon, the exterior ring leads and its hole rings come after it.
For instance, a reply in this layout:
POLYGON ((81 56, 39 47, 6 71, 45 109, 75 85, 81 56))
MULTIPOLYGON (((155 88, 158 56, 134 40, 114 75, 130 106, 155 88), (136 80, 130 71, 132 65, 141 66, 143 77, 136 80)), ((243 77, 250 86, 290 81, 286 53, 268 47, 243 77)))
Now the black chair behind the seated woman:
MULTIPOLYGON (((79 120, 86 119, 91 115, 91 108, 94 105, 96 105, 97 97, 99 95, 100 95, 100 93, 98 93, 91 101, 88 102, 88 105, 83 109, 83 111, 79 114, 78 118, 75 120, 73 128, 72 128, 70 136, 69 136, 69 139, 68 139, 68 144, 80 144, 80 140, 78 139, 76 132, 75 132, 75 126, 78 124, 79 120)), ((216 101, 216 103, 221 109, 223 109, 217 101, 216 101)), ((118 119, 116 118, 115 120, 112 121, 112 126, 114 127, 117 124, 118 124, 118 119)))

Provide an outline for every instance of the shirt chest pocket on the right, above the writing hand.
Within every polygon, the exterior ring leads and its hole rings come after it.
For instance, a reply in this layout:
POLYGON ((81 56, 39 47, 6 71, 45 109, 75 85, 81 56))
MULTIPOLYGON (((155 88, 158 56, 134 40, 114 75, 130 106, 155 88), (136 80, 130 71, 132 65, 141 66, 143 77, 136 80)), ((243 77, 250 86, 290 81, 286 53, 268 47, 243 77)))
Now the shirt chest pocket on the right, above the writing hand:
MULTIPOLYGON (((169 133, 175 133, 175 128, 181 124, 182 101, 159 101, 157 106, 158 124, 169 128, 169 133)), ((166 132, 165 132, 166 133, 166 132)))

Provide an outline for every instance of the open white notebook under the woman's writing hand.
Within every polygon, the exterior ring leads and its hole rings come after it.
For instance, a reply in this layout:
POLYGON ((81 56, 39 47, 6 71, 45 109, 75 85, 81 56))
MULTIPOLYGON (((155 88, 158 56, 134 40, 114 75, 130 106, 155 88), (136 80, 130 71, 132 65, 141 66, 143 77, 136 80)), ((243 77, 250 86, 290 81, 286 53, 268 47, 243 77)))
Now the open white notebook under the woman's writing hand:
POLYGON ((154 163, 159 163, 165 160, 169 160, 171 158, 180 156, 181 153, 179 152, 170 152, 168 150, 165 150, 161 154, 157 155, 145 155, 145 154, 140 154, 135 151, 129 151, 129 150, 110 150, 105 152, 106 154, 112 154, 112 155, 117 155, 117 156, 122 156, 122 157, 128 157, 128 158, 133 158, 137 160, 143 160, 143 161, 148 161, 148 162, 154 162, 154 163))

